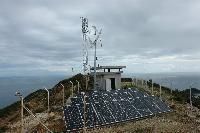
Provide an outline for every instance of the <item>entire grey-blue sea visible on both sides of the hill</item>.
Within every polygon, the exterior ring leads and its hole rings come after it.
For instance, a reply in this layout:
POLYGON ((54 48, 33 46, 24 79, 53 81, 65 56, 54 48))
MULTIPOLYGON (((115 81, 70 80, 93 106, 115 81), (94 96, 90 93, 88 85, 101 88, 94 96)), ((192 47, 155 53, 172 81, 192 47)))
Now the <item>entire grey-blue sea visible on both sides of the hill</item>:
MULTIPOLYGON (((188 89, 192 84, 193 88, 200 89, 200 73, 151 73, 151 74, 124 74, 122 77, 136 77, 141 79, 153 79, 155 83, 173 89, 188 89)), ((19 98, 14 96, 16 91, 20 91, 23 96, 38 89, 52 88, 65 76, 29 76, 29 77, 0 77, 0 108, 6 107, 19 98)))

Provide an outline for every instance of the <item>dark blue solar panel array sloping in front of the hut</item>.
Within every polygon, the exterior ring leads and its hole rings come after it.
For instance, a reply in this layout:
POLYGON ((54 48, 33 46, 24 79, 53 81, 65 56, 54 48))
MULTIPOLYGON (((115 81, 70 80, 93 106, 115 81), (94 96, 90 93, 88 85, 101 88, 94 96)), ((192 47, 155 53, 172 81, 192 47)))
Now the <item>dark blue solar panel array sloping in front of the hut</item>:
POLYGON ((64 120, 67 131, 75 131, 83 129, 84 123, 94 128, 169 111, 158 97, 137 89, 92 91, 71 98, 71 105, 64 107, 64 120))

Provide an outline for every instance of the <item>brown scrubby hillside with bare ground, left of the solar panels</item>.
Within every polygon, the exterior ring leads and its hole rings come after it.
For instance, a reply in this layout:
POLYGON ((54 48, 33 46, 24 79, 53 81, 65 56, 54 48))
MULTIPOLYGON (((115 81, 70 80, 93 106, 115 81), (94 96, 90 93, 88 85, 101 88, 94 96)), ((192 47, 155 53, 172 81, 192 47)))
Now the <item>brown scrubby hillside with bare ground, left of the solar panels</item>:
MULTIPOLYGON (((91 79, 91 78, 90 78, 91 79)), ((88 90, 85 90, 85 77, 82 74, 77 74, 69 79, 64 79, 57 83, 53 88, 49 89, 50 92, 50 114, 47 117, 47 92, 44 89, 39 89, 24 98, 25 106, 30 109, 36 116, 40 117, 43 123, 47 123, 50 129, 55 131, 63 131, 63 111, 62 111, 62 96, 63 89, 60 84, 65 87, 65 99, 70 97, 71 84, 70 81, 76 83, 76 80, 80 82, 81 91, 91 90, 92 82, 89 81, 88 90), (41 115, 41 113, 43 113, 41 115), (46 117, 45 117, 46 116, 46 117), (49 122, 50 121, 50 122, 49 122)), ((77 92, 77 85, 74 85, 75 91, 77 92)), ((27 111, 24 110, 25 122, 27 127, 32 127, 34 131, 35 128, 40 129, 41 125, 33 121, 33 117, 29 117, 27 111), (26 119, 27 117, 27 119, 26 119)), ((17 101, 3 109, 0 109, 0 132, 11 130, 20 131, 20 101, 17 101)), ((42 128, 41 128, 42 129, 42 128)))

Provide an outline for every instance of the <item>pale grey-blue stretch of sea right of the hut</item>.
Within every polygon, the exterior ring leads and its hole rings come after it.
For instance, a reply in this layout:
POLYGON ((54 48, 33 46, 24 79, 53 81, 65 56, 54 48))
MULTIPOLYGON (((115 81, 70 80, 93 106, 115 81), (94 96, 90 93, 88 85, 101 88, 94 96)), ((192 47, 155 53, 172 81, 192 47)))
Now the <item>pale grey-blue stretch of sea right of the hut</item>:
POLYGON ((178 73, 146 73, 127 74, 125 77, 139 78, 159 83, 172 89, 185 90, 190 86, 200 89, 200 73, 178 72, 178 73))

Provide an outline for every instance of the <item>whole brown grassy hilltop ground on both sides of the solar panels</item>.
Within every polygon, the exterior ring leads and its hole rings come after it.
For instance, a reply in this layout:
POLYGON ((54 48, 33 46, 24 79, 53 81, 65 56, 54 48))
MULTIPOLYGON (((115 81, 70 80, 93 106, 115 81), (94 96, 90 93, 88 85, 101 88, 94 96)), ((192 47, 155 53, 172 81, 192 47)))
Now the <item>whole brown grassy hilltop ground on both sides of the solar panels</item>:
MULTIPOLYGON (((48 126, 49 129, 55 132, 65 130, 62 111, 62 83, 65 86, 65 99, 70 97, 71 84, 69 81, 76 83, 80 82, 81 91, 91 90, 92 77, 90 77, 88 90, 85 90, 85 77, 82 74, 77 74, 69 79, 64 79, 50 89, 50 114, 47 114, 47 93, 40 89, 29 94, 24 99, 25 106, 29 108, 40 120, 48 126)), ((137 87, 139 90, 146 93, 151 93, 151 81, 147 82, 147 86, 143 86, 141 81, 137 85, 132 84, 130 78, 122 79, 122 89, 128 87, 137 87)), ((159 96, 159 84, 154 83, 154 95, 159 96)), ((75 93, 77 85, 75 85, 75 93)), ((199 93, 198 89, 193 88, 193 92, 199 93)), ((193 103, 196 107, 190 108, 189 90, 179 91, 167 87, 162 87, 162 99, 167 102, 173 109, 173 112, 154 116, 152 118, 131 121, 117 124, 112 127, 104 127, 102 129, 94 129, 89 132, 190 132, 199 131, 200 113, 199 98, 193 96, 193 103)), ((34 120, 26 111, 25 113, 25 128, 29 132, 40 131, 45 132, 44 128, 38 121, 34 120)), ((0 132, 20 132, 20 102, 13 103, 8 107, 0 110, 0 132)))

